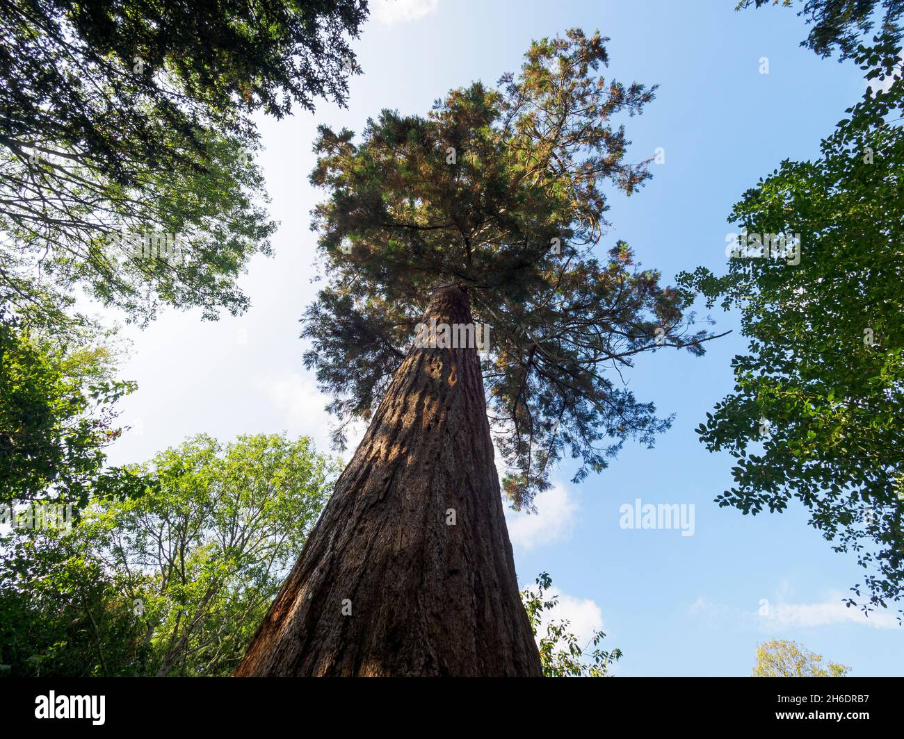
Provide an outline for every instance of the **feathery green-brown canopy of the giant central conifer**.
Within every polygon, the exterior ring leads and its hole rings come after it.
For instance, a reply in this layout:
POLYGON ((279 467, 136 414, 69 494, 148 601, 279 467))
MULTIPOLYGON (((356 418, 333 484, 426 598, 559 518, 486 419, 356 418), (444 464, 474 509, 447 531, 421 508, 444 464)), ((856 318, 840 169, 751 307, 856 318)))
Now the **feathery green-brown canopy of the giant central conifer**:
POLYGON ((625 243, 593 254, 607 185, 630 194, 650 177, 650 160, 626 160, 613 118, 641 113, 654 88, 598 76, 606 41, 542 39, 497 89, 452 90, 426 117, 384 110, 359 144, 322 126, 315 144, 311 182, 327 198, 312 228, 329 278, 303 336, 330 410, 343 424, 369 417, 431 292, 461 287, 491 326, 483 372, 515 505, 530 505, 565 450, 581 459, 577 481, 627 438, 652 445, 670 419, 618 373, 660 346, 702 353, 706 336, 686 335, 691 296, 637 268, 625 243))

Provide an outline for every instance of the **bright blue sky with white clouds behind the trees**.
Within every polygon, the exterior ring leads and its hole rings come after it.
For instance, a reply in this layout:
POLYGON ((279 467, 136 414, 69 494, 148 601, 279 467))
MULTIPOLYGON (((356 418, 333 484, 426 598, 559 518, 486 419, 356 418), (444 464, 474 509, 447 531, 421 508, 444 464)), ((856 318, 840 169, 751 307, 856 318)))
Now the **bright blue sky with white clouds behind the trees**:
MULTIPOLYGON (((734 0, 372 5, 355 44, 364 75, 352 82, 348 108, 321 104, 315 115, 260 121, 259 164, 281 225, 276 257, 255 258, 242 279, 250 311, 217 323, 168 311, 145 331, 125 331, 133 352, 122 376, 139 389, 122 404, 132 430, 112 447, 112 463, 145 460, 200 432, 225 440, 287 430, 326 449, 327 398, 303 369, 297 338, 316 289, 308 213, 319 194, 307 174, 318 123, 361 131, 381 108, 425 113, 447 89, 516 70, 533 38, 598 29, 611 38, 606 76, 660 85, 643 116, 625 119, 630 158, 665 152, 644 190, 630 199, 613 193, 615 228, 599 253, 625 239, 645 267, 672 281, 698 265, 724 271, 732 203, 782 159, 815 156, 864 89, 853 64, 800 48, 803 19, 782 8, 735 13, 734 0)), ((607 645, 624 651, 622 676, 746 675, 757 642, 774 636, 802 641, 853 675, 901 674, 904 630, 892 613, 867 621, 844 607, 861 571, 807 526, 799 506, 751 518, 712 502, 730 487, 730 458, 708 453, 693 428, 730 391, 730 358, 744 341, 737 316, 711 314, 720 332, 735 332, 711 342, 705 357, 659 351, 626 376, 637 398, 676 415, 656 447, 626 445, 580 485, 566 465, 538 499, 539 515, 509 516, 520 581, 548 571, 560 615, 581 634, 601 626, 607 645), (619 507, 637 498, 693 504, 693 536, 619 528, 619 507), (763 600, 768 616, 758 613, 763 600)))

